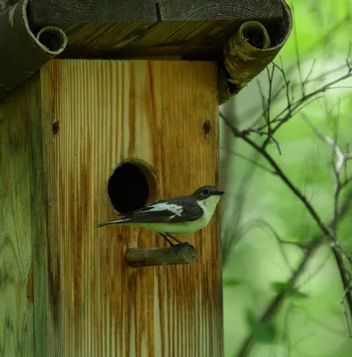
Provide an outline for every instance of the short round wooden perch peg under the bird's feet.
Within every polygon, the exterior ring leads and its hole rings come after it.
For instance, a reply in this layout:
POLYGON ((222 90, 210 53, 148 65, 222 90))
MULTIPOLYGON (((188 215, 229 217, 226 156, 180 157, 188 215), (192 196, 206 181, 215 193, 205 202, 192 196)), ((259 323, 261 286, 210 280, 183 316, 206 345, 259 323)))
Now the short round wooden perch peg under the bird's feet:
POLYGON ((193 245, 183 243, 163 248, 130 248, 125 259, 130 267, 155 265, 192 264, 197 261, 198 252, 193 245))

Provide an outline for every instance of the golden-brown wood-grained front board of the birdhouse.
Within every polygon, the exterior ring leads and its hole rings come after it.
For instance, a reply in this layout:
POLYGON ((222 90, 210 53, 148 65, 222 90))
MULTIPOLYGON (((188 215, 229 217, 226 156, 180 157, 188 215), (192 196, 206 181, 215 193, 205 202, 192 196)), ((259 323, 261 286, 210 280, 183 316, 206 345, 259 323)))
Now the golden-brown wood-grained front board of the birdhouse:
POLYGON ((155 170, 151 200, 218 184, 215 64, 55 60, 40 80, 41 269, 51 281, 46 294, 55 295, 48 299, 47 355, 222 356, 217 214, 183 237, 198 250, 191 265, 130 268, 127 248, 163 246, 163 239, 143 228, 96 228, 115 216, 107 180, 126 158, 155 170))

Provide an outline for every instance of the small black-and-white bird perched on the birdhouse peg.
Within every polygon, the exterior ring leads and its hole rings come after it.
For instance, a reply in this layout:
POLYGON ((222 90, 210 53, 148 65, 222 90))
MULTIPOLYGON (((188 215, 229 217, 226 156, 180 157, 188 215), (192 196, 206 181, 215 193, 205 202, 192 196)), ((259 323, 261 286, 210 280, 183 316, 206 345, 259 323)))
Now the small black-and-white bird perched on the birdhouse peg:
POLYGON ((205 228, 223 194, 214 186, 199 187, 192 195, 147 204, 137 211, 121 214, 117 220, 99 223, 98 227, 118 224, 149 228, 159 233, 170 245, 174 244, 169 238, 178 245, 185 245, 188 243, 182 243, 173 235, 189 234, 205 228))

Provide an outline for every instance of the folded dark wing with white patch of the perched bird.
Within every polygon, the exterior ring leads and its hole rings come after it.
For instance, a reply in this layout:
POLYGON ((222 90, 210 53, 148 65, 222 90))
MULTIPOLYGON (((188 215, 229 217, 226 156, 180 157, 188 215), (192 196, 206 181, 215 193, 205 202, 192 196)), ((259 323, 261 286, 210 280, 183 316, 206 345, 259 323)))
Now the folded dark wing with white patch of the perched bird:
POLYGON ((169 200, 148 204, 142 209, 124 215, 124 222, 135 223, 180 223, 198 220, 203 216, 203 210, 197 202, 186 197, 175 197, 169 200))

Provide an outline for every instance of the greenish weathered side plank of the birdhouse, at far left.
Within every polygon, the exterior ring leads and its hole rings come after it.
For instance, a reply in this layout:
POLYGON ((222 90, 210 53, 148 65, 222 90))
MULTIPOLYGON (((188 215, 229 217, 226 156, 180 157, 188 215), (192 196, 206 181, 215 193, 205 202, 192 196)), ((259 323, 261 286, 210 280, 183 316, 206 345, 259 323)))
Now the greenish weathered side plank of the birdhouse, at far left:
POLYGON ((34 353, 26 87, 0 104, 0 355, 34 353))

